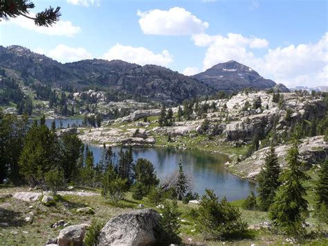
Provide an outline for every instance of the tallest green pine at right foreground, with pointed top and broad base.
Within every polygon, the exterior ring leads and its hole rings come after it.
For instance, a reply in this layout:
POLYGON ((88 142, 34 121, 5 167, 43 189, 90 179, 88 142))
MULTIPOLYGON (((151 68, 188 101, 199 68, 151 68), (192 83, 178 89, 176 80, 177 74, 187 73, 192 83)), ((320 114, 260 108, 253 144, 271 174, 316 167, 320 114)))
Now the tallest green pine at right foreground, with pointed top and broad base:
POLYGON ((268 216, 287 235, 302 236, 308 215, 308 202, 304 199, 307 192, 302 182, 309 177, 301 170, 297 137, 287 152, 286 165, 286 170, 279 179, 282 185, 275 195, 275 202, 271 205, 268 216))

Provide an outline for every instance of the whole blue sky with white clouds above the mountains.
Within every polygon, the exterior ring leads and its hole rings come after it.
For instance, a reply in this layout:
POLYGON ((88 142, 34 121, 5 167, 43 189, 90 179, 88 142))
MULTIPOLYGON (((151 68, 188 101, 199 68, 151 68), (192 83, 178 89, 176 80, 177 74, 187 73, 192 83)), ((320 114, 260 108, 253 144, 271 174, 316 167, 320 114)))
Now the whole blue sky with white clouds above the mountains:
POLYGON ((59 62, 120 59, 193 75, 235 60, 264 78, 328 86, 328 1, 42 0, 60 6, 51 28, 24 17, 0 22, 0 45, 59 62))

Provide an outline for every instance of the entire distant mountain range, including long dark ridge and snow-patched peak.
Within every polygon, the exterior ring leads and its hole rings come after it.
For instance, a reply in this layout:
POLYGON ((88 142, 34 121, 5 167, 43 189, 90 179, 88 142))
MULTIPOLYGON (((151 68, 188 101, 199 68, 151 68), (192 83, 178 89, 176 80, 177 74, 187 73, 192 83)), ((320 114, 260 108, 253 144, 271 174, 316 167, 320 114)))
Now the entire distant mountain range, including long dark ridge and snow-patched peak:
POLYGON ((185 99, 239 91, 245 88, 269 89, 276 84, 259 73, 229 61, 194 76, 156 65, 140 66, 121 60, 81 60, 62 64, 22 46, 0 46, 0 69, 13 78, 51 87, 98 86, 115 93, 143 96, 150 100, 181 103, 185 99))

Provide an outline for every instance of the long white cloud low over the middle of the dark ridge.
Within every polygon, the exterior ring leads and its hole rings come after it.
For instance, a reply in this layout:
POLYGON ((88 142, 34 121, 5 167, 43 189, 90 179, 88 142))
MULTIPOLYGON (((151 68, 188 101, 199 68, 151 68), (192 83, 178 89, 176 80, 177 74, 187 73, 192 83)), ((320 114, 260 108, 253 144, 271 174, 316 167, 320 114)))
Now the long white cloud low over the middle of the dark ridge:
POLYGON ((144 47, 123 46, 121 44, 112 46, 102 58, 106 60, 124 60, 140 65, 156 64, 167 66, 167 64, 173 62, 173 56, 166 50, 155 54, 144 47))

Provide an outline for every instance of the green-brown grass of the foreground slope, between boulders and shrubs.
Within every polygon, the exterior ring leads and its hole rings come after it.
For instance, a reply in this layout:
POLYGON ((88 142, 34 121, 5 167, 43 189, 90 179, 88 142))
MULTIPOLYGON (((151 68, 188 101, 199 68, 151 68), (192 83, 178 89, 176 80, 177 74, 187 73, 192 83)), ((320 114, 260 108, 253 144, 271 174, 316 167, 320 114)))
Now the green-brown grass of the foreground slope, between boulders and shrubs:
MULTIPOLYGON (((307 187, 308 195, 307 200, 310 206, 313 206, 315 200, 313 198, 314 193, 312 191, 313 184, 316 180, 316 170, 309 170, 307 172, 313 179, 309 180, 304 186, 307 187)), ((91 191, 100 193, 98 188, 88 187, 75 187, 75 191, 91 191)), ((0 186, 1 193, 15 193, 17 191, 27 191, 25 187, 14 186, 0 186)), ((267 213, 263 211, 248 211, 242 209, 242 203, 244 200, 235 200, 231 202, 234 206, 239 207, 242 212, 242 220, 248 223, 248 225, 256 225, 260 222, 268 221, 267 213)), ((8 222, 8 227, 0 227, 0 244, 4 245, 42 245, 48 240, 48 238, 56 238, 62 227, 51 228, 51 225, 58 220, 64 220, 69 222, 70 225, 76 225, 81 223, 90 223, 93 218, 97 218, 100 222, 107 222, 113 216, 117 216, 120 213, 126 213, 134 209, 140 209, 138 204, 144 204, 145 208, 152 207, 153 209, 161 212, 160 209, 154 208, 152 204, 149 204, 147 198, 143 200, 134 200, 131 193, 125 195, 125 199, 120 202, 119 207, 113 207, 108 200, 105 200, 101 196, 80 197, 78 195, 63 195, 57 197, 55 205, 46 207, 39 202, 22 202, 15 200, 15 198, 9 197, 0 201, 0 222, 8 222), (7 204, 6 206, 3 204, 7 204), (9 204, 9 205, 8 205, 9 204), (30 205, 33 205, 33 209, 29 209, 30 205), (95 211, 94 215, 77 214, 76 209, 80 207, 91 207, 95 211), (30 212, 33 211, 33 223, 25 222, 24 218, 30 216, 30 212)), ((206 243, 208 245, 250 245, 255 243, 256 245, 274 244, 282 245, 286 244, 286 237, 280 234, 273 234, 273 232, 267 229, 260 230, 248 230, 242 235, 242 238, 236 236, 224 241, 205 241, 195 230, 197 220, 195 220, 195 214, 197 213, 196 204, 183 204, 178 202, 179 211, 182 212, 180 219, 181 231, 179 236, 183 239, 184 243, 206 243)), ((310 213, 311 215, 311 213, 310 213)), ((310 216, 307 220, 310 223, 316 224, 316 219, 310 216)), ((307 245, 327 245, 328 240, 324 238, 307 239, 305 242, 307 245)))

